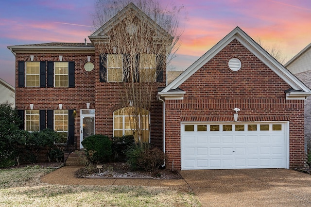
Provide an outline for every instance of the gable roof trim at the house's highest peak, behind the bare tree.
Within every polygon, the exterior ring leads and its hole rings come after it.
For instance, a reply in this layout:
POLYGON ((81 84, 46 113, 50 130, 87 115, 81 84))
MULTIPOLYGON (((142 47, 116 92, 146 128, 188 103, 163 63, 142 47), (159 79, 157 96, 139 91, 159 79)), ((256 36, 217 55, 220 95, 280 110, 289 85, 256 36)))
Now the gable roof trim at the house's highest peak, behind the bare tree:
POLYGON ((147 22, 155 30, 162 35, 169 35, 163 28, 161 28, 154 20, 152 20, 148 15, 142 12, 134 3, 129 3, 120 12, 118 12, 114 17, 109 19, 102 27, 100 27, 93 34, 88 36, 89 39, 96 38, 96 36, 105 36, 111 29, 113 29, 117 24, 119 24, 123 19, 126 18, 127 12, 131 11, 132 15, 137 16, 140 20, 147 22))

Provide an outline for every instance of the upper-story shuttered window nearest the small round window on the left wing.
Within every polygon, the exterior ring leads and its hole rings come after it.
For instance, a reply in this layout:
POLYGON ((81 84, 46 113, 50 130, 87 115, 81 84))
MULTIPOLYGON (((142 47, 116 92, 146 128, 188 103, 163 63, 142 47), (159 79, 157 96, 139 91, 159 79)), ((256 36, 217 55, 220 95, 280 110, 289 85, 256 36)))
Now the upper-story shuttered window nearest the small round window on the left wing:
POLYGON ((68 62, 54 62, 54 87, 68 87, 68 62))

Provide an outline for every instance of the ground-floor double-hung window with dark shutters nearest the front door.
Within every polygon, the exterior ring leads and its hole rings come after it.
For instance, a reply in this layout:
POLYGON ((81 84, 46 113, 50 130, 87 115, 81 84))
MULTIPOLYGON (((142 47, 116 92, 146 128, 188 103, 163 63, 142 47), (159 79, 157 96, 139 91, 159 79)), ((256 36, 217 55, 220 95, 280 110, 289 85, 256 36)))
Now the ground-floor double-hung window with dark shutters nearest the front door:
POLYGON ((60 133, 61 143, 67 143, 68 139, 68 110, 54 110, 54 130, 60 133))

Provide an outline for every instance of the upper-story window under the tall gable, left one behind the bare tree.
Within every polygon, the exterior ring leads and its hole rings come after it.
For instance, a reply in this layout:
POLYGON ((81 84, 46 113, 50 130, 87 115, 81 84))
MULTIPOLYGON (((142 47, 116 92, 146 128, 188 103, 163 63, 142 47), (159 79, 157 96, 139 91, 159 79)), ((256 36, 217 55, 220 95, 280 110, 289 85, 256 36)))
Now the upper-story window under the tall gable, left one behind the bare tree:
POLYGON ((108 82, 122 82, 122 55, 121 54, 107 54, 107 81, 108 82))

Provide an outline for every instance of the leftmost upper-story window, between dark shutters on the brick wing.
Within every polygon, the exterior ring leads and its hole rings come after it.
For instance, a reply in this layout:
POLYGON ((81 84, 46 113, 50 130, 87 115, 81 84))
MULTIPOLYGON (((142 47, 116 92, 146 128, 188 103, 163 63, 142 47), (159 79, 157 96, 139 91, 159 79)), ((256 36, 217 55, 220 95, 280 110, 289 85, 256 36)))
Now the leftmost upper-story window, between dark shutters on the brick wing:
POLYGON ((26 87, 40 86, 40 62, 26 62, 26 87))

